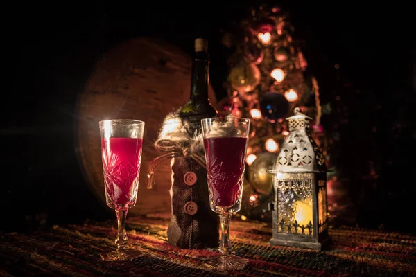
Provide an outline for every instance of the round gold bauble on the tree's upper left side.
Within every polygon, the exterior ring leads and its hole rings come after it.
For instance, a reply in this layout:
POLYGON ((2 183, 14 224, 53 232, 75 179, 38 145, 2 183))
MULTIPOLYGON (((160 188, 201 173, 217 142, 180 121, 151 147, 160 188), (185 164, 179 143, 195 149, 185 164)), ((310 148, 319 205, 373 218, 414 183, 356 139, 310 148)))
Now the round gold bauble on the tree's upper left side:
POLYGON ((231 69, 229 81, 239 93, 248 93, 259 84, 260 71, 255 64, 241 62, 231 69))

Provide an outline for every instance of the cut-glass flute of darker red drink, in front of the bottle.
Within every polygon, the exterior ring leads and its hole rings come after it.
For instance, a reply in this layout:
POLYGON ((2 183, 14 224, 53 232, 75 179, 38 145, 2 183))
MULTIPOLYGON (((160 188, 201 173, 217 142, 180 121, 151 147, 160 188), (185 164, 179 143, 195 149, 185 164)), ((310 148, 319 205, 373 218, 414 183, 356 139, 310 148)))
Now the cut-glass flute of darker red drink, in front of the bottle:
POLYGON ((220 271, 243 269, 248 259, 231 254, 229 221, 241 208, 250 119, 205 118, 201 123, 209 205, 220 217, 221 240, 218 250, 222 253, 204 263, 220 271))

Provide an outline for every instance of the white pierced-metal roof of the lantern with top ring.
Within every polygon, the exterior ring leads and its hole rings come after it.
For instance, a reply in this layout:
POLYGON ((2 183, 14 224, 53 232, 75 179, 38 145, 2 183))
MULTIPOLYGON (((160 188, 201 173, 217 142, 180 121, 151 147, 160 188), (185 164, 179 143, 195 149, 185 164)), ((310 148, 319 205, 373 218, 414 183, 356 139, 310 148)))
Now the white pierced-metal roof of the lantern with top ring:
POLYGON ((309 132, 312 119, 302 114, 299 107, 288 117, 290 134, 281 145, 281 150, 270 173, 327 172, 324 154, 309 132))

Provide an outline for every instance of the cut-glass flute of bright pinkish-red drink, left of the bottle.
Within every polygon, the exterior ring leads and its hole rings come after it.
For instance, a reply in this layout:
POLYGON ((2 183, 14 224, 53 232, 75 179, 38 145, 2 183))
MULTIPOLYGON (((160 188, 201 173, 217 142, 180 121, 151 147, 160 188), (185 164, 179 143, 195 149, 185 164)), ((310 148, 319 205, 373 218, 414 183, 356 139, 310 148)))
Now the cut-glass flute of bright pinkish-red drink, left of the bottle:
POLYGON ((101 258, 128 260, 143 255, 138 249, 128 247, 125 217, 128 209, 136 204, 144 122, 114 119, 100 121, 99 126, 105 198, 107 205, 116 211, 119 227, 116 251, 101 253, 101 258))

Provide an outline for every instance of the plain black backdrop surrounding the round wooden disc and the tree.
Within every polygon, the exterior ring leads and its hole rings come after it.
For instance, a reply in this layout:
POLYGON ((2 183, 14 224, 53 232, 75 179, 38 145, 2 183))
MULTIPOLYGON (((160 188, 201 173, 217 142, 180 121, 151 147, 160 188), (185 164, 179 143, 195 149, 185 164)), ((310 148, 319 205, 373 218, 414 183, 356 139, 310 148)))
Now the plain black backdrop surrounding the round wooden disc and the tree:
MULTIPOLYGON (((1 109, 1 229, 114 217, 89 190, 74 151, 76 96, 105 51, 146 35, 191 55, 193 39, 205 36, 220 99, 230 54, 220 44, 222 32, 261 3, 85 1, 5 9, 3 78, 9 86, 3 87, 1 109)), ((349 223, 414 233, 415 23, 410 6, 394 5, 280 3, 295 38, 304 39, 322 102, 333 105, 323 122, 340 135, 334 157, 358 211, 349 223)))

